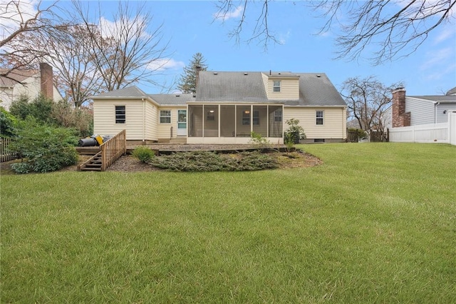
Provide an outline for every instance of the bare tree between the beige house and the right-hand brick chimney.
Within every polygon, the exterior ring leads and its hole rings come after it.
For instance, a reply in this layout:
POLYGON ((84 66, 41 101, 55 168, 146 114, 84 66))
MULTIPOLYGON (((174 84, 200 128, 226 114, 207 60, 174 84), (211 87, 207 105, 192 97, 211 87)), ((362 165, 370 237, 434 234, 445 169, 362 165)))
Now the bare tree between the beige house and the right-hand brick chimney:
POLYGON ((385 86, 375 76, 348 78, 341 89, 348 117, 356 119, 359 128, 365 131, 373 127, 383 130, 382 114, 391 105, 391 91, 398 86, 399 83, 385 86))

